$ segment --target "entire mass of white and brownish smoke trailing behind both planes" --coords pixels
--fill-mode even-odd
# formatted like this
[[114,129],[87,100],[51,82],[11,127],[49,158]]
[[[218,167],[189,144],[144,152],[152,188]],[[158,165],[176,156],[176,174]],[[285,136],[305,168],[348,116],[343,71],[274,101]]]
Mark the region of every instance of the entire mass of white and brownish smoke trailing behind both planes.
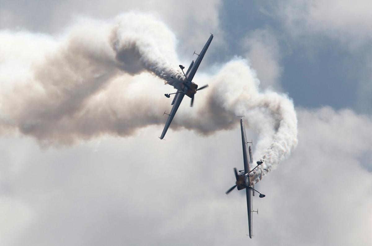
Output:
[[[159,88],[183,80],[174,70],[175,48],[173,33],[144,14],[81,20],[59,38],[1,31],[0,133],[15,129],[42,146],[70,145],[163,125],[170,100]],[[235,58],[214,75],[198,73],[196,82],[210,87],[196,95],[195,108],[177,112],[172,129],[210,134],[236,127],[235,116],[245,114],[247,128],[259,133],[255,156],[264,160],[256,182],[296,146],[293,103],[260,93],[246,60]]]

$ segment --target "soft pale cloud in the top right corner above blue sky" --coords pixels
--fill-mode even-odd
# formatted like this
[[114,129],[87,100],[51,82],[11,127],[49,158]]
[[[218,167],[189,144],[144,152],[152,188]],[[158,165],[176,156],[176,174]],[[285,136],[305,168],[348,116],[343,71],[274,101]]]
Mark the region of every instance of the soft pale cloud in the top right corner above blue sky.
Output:
[[360,48],[372,38],[369,1],[288,0],[280,2],[276,9],[293,36],[311,38],[314,33],[320,34],[350,49]]

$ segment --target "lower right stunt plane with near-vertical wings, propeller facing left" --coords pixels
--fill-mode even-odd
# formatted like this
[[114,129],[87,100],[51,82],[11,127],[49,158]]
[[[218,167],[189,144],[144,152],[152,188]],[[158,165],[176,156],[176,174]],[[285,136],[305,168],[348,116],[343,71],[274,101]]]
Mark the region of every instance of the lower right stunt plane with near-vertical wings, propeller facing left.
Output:
[[[246,189],[249,237],[252,238],[252,227],[253,227],[252,212],[256,212],[258,214],[258,209],[257,211],[254,211],[252,208],[252,199],[253,199],[252,196],[254,196],[254,191],[260,194],[259,195],[260,198],[265,197],[265,195],[254,189],[254,184],[251,185],[250,178],[252,178],[252,176],[256,174],[256,171],[254,169],[260,166],[263,163],[263,161],[262,160],[257,161],[257,166],[251,169],[251,164],[253,163],[252,149],[251,149],[251,145],[249,145],[249,147],[247,148],[247,143],[252,143],[253,141],[247,142],[246,129],[244,128],[244,120],[243,120],[244,116],[238,116],[238,117],[241,117],[240,128],[241,128],[241,142],[243,144],[244,170],[237,171],[237,169],[234,168],[236,182],[233,187],[231,187],[228,191],[226,191],[226,194],[229,194],[232,190],[235,189],[235,187],[237,187],[238,190]],[[249,158],[248,158],[247,150],[249,153]]]

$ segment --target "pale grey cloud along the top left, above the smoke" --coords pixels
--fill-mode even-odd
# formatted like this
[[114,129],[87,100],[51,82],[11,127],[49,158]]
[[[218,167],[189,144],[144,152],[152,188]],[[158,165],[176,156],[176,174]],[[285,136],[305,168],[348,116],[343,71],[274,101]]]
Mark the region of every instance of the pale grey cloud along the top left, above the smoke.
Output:
[[35,1],[29,5],[23,0],[16,0],[1,5],[0,28],[59,34],[61,29],[74,25],[81,16],[109,19],[123,12],[141,12],[166,22],[182,41],[180,54],[191,55],[195,48],[205,42],[204,35],[209,32],[219,35],[219,40],[215,41],[216,48],[224,45],[219,27],[221,4],[220,0],[187,3],[168,0],[161,4],[154,1],[83,0]]

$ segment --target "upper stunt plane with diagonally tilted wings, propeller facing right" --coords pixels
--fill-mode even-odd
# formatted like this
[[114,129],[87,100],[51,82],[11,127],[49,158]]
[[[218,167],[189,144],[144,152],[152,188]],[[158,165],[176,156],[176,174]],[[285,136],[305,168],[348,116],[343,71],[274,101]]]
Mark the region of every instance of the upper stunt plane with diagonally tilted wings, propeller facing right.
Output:
[[186,74],[183,71],[183,69],[185,67],[183,67],[182,65],[179,65],[179,67],[182,70],[183,75],[185,75],[186,81],[183,82],[181,85],[177,86],[178,88],[176,88],[177,89],[176,93],[164,94],[164,96],[166,96],[167,98],[170,98],[170,95],[172,95],[172,94],[175,94],[175,96],[174,96],[173,101],[171,103],[171,105],[173,105],[173,107],[172,107],[170,113],[167,114],[164,111],[164,114],[168,115],[168,119],[167,119],[167,122],[165,123],[164,130],[161,133],[161,136],[159,137],[160,139],[163,139],[165,134],[167,133],[168,127],[170,126],[170,123],[172,122],[173,117],[176,114],[177,109],[180,106],[183,97],[186,95],[186,96],[191,98],[190,107],[192,107],[193,104],[194,104],[195,93],[197,91],[203,90],[206,87],[208,87],[208,85],[204,85],[204,86],[198,88],[198,85],[195,84],[194,82],[192,82],[192,79],[194,78],[194,75],[195,75],[196,71],[198,70],[200,63],[202,62],[202,59],[205,55],[205,52],[207,51],[209,45],[211,44],[212,39],[213,39],[213,34],[211,33],[211,36],[209,36],[209,39],[205,43],[204,48],[202,49],[200,54],[196,54],[195,51],[194,51],[194,54],[198,55],[198,58],[196,58],[195,62],[194,61],[191,62],[189,68],[186,71]]

